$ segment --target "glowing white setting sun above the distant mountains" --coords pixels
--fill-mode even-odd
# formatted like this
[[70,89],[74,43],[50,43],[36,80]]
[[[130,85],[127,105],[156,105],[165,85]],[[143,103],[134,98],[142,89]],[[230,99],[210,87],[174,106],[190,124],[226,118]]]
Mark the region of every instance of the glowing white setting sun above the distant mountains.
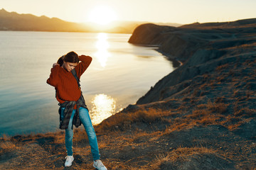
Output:
[[109,6],[96,6],[89,13],[89,21],[99,25],[107,25],[117,20],[117,14]]

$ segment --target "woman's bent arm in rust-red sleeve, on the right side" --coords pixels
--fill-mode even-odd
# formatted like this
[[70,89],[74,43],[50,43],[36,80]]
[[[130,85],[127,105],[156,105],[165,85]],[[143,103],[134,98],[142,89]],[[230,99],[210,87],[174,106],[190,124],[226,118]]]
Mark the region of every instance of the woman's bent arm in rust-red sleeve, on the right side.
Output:
[[92,62],[92,57],[87,55],[80,55],[79,56],[79,64],[77,67],[75,67],[75,72],[77,72],[78,77],[80,79],[80,76],[85,72],[85,70],[89,67],[90,63]]

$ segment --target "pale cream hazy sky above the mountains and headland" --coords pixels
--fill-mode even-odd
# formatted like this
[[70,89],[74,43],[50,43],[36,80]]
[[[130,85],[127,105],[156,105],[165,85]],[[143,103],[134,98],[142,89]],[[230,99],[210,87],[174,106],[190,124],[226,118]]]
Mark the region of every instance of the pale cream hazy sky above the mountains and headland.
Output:
[[[0,8],[65,21],[86,22],[97,6],[120,21],[206,23],[256,18],[256,0],[1,0]],[[106,14],[107,15],[107,14]],[[105,16],[100,13],[99,16]]]

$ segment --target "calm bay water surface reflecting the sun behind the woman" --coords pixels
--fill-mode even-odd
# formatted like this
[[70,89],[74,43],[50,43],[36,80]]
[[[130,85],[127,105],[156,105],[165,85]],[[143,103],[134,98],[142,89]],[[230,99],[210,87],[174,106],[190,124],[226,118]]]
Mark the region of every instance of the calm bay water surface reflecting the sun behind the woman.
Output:
[[173,64],[129,34],[0,31],[0,136],[58,130],[58,101],[46,84],[58,57],[90,55],[81,88],[94,125],[136,103]]

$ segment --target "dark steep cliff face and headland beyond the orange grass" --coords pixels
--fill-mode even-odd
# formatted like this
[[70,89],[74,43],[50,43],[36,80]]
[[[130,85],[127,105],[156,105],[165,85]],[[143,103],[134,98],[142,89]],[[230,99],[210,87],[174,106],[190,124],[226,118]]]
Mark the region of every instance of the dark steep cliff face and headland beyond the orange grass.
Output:
[[[167,75],[139,98],[137,104],[162,101],[177,94],[187,86],[193,78],[215,72],[223,64],[245,62],[255,57],[253,47],[256,39],[256,19],[235,21],[230,27],[218,24],[219,28],[209,28],[210,24],[202,25],[200,29],[194,24],[185,28],[172,28],[145,24],[134,30],[129,42],[144,45],[159,45],[161,52],[168,57],[181,60],[183,64]],[[236,24],[238,28],[233,26]],[[199,26],[197,26],[199,27]],[[206,28],[205,28],[206,27]],[[247,47],[250,47],[247,48]]]

